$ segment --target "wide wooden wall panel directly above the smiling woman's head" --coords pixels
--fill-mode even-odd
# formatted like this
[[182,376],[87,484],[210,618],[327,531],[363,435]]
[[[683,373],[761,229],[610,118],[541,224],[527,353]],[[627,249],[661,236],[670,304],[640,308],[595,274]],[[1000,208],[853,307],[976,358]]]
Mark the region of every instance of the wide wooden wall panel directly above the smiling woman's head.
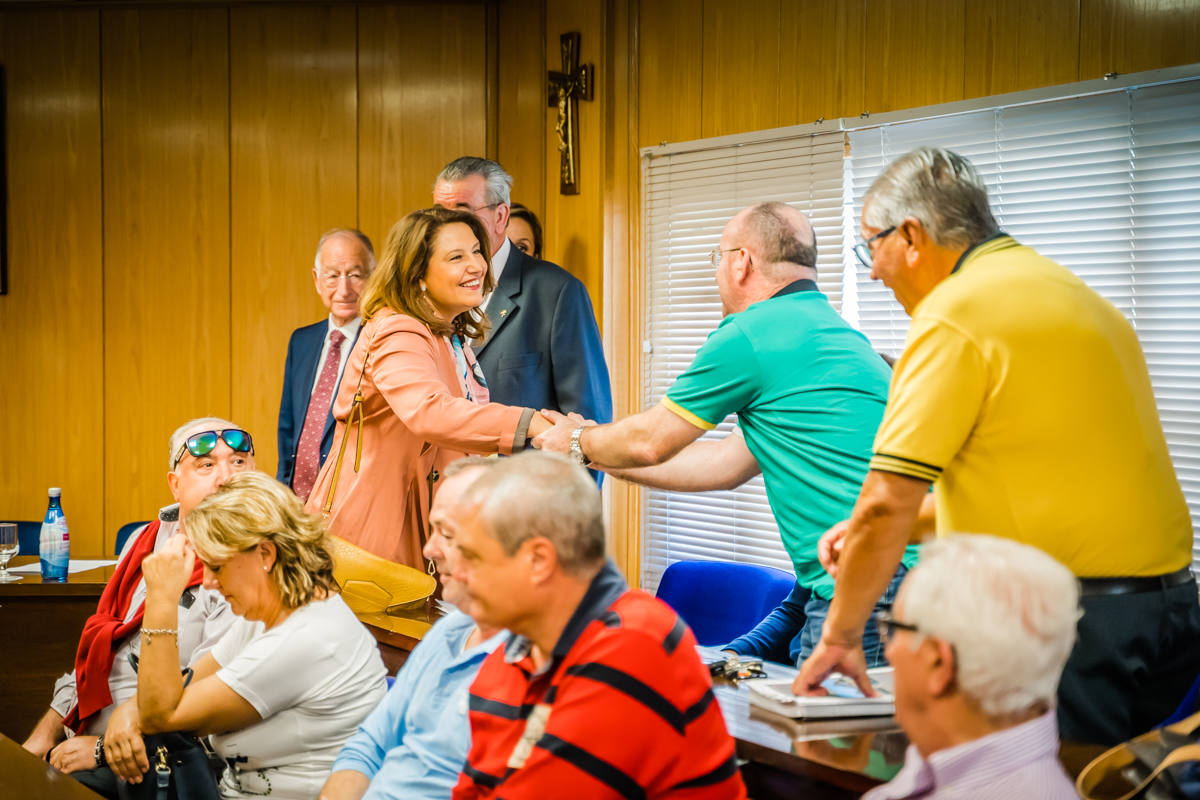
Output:
[[487,148],[487,10],[359,8],[359,223],[379,249],[433,179]]

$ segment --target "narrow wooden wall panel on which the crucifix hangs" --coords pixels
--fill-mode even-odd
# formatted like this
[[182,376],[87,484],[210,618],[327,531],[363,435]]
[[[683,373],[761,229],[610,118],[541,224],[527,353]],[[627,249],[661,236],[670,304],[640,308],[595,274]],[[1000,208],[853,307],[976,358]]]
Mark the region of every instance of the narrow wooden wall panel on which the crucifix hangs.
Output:
[[[605,0],[550,0],[546,4],[546,64],[562,67],[558,37],[578,31],[580,64],[604,71]],[[604,319],[604,170],[601,94],[580,102],[580,193],[562,194],[558,173],[557,109],[544,107],[546,119],[545,255],[583,282],[592,295],[596,319]],[[602,323],[601,323],[602,324]]]

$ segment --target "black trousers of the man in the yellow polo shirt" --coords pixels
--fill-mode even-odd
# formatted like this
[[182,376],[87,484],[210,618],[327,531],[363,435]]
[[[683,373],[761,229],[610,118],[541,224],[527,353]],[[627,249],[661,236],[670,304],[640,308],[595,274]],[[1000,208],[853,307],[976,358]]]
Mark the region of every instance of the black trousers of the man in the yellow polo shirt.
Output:
[[1058,685],[1058,730],[1111,746],[1170,716],[1200,675],[1196,584],[1085,595],[1080,604],[1079,638]]

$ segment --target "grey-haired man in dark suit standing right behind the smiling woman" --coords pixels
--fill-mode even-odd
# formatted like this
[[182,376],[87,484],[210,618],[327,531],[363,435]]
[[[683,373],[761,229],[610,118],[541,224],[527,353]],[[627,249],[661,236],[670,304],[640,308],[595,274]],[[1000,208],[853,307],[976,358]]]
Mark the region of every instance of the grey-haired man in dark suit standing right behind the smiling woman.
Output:
[[612,390],[592,299],[563,267],[530,258],[508,240],[512,178],[487,158],[446,164],[433,201],[473,212],[487,229],[496,291],[484,299],[492,323],[475,347],[492,402],[578,411],[612,420]]

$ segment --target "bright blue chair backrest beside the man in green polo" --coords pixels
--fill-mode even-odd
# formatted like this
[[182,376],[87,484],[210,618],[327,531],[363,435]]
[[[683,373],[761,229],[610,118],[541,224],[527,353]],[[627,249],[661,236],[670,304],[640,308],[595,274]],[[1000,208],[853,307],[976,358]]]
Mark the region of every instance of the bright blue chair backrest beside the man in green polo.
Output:
[[676,561],[662,573],[658,597],[688,624],[703,645],[749,632],[796,585],[782,570],[731,561]]

